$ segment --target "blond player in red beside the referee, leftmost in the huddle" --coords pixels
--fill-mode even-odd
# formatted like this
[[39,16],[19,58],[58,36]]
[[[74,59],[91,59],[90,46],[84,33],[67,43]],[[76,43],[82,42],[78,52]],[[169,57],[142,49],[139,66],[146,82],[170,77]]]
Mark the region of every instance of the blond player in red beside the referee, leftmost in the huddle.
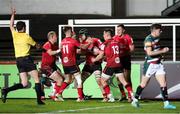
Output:
[[[41,74],[45,75],[45,78],[53,80],[55,83],[55,93],[60,89],[61,83],[64,77],[61,70],[56,65],[56,55],[61,51],[57,46],[57,34],[54,31],[48,32],[48,41],[43,45]],[[43,78],[43,77],[42,77]],[[54,101],[61,101],[54,95],[51,97]]]

